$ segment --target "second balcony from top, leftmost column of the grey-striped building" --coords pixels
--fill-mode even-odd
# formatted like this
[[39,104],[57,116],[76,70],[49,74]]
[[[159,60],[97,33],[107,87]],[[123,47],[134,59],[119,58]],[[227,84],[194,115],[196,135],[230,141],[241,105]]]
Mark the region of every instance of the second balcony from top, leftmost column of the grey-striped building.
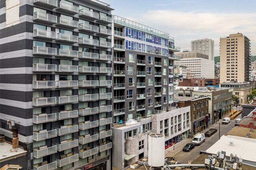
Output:
[[37,11],[33,13],[33,20],[42,22],[43,24],[46,24],[46,23],[56,24],[57,16]]

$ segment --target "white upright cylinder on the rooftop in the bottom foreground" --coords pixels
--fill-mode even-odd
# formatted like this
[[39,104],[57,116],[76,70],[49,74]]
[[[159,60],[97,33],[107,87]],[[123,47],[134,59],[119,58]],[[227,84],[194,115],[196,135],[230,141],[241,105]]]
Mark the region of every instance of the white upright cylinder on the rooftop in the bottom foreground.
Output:
[[159,167],[165,164],[165,135],[148,135],[148,165]]

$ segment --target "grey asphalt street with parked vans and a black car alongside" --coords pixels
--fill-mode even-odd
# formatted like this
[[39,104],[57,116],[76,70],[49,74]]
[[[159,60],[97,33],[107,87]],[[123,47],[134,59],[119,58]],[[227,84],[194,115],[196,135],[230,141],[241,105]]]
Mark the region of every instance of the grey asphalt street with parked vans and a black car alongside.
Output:
[[[241,117],[241,115],[239,115],[239,117]],[[221,128],[221,136],[222,136],[225,133],[229,132],[235,126],[236,119],[230,120],[230,123],[228,124],[222,124],[221,120],[219,122],[220,122],[220,128]],[[217,129],[217,132],[213,134],[211,137],[206,137],[205,142],[202,143],[200,146],[195,146],[195,148],[192,149],[190,152],[183,152],[182,148],[184,147],[184,145],[186,145],[186,143],[192,143],[192,139],[190,139],[190,140],[187,140],[186,143],[175,148],[174,150],[172,150],[173,147],[171,147],[169,150],[169,153],[165,154],[165,157],[170,157],[170,156],[174,157],[174,159],[177,160],[179,163],[188,163],[188,161],[192,161],[199,155],[200,151],[202,150],[206,151],[215,142],[219,140],[219,122],[210,125],[208,129],[204,130],[204,132],[206,132],[210,128],[214,128],[214,129]]]

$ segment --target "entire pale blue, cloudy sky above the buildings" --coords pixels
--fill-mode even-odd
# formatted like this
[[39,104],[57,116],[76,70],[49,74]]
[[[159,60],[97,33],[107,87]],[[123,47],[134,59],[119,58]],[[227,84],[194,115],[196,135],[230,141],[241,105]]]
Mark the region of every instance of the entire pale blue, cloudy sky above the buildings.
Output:
[[191,49],[191,40],[214,40],[242,33],[256,55],[256,0],[101,0],[115,9],[113,15],[169,33],[175,46]]

